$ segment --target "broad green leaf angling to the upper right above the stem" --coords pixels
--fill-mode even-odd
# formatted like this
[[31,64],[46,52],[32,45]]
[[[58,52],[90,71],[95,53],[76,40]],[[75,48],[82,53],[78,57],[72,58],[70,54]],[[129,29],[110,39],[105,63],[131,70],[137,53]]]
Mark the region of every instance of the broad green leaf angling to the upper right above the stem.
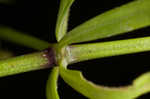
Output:
[[79,25],[60,46],[110,37],[150,25],[150,0],[134,0]]

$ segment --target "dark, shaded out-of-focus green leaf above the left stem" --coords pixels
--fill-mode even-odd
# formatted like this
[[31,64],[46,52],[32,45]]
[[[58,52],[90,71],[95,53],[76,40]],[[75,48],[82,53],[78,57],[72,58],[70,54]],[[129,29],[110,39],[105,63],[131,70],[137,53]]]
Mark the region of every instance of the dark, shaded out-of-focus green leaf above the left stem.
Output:
[[48,42],[7,27],[0,27],[0,38],[38,50],[51,46]]

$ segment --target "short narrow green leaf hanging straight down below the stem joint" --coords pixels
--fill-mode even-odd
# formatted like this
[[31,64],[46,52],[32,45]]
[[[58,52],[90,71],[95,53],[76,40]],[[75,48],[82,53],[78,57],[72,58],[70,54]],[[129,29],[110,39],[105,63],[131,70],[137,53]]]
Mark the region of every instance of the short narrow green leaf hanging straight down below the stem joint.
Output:
[[59,76],[59,67],[54,67],[48,78],[46,86],[47,99],[59,99],[57,92],[57,80]]

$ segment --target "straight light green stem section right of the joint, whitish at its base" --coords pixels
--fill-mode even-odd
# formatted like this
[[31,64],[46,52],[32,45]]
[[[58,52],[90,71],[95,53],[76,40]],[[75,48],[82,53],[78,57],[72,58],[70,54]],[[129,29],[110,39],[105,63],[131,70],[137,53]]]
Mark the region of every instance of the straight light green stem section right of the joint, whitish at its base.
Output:
[[69,63],[108,56],[144,52],[150,50],[150,37],[102,43],[71,45],[66,48]]

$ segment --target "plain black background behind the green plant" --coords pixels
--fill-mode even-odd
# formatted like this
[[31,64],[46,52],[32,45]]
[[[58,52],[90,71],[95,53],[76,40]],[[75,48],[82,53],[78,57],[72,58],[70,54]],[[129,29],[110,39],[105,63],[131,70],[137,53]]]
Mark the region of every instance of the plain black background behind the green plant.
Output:
[[[70,11],[69,30],[86,20],[116,6],[132,0],[75,0]],[[56,42],[54,31],[59,7],[59,0],[17,0],[13,5],[0,5],[0,25],[15,28],[48,42]],[[113,41],[149,36],[150,28],[139,29],[112,38],[97,40]],[[11,34],[10,34],[11,36]],[[11,50],[16,56],[32,53],[36,50],[11,42],[0,40],[3,49]],[[94,41],[95,42],[95,41]],[[96,84],[123,86],[144,72],[150,71],[150,52],[121,55],[90,60],[69,66],[78,69]],[[51,69],[22,73],[0,78],[1,99],[45,99],[45,85]],[[86,99],[59,78],[61,99]],[[150,94],[138,99],[149,99]]]

